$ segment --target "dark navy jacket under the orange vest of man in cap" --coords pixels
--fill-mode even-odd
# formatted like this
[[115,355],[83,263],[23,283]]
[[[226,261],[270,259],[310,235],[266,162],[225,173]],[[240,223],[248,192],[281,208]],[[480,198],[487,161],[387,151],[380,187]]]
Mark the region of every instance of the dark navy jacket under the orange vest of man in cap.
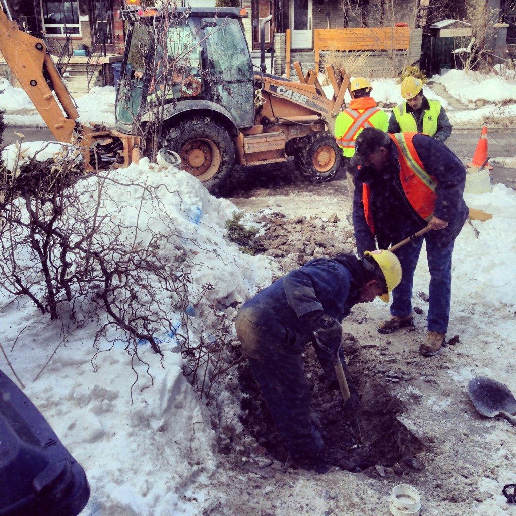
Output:
[[[412,142],[425,171],[437,181],[437,200],[434,215],[446,220],[448,226],[427,235],[441,248],[447,247],[462,229],[468,208],[462,198],[466,170],[460,159],[444,143],[423,134],[415,134]],[[398,149],[389,142],[389,163],[382,170],[362,166],[355,178],[353,198],[353,225],[359,256],[364,251],[376,249],[375,236],[380,249],[387,249],[426,227],[410,205],[399,180]],[[376,235],[371,233],[364,215],[362,185],[370,187],[370,204]]]

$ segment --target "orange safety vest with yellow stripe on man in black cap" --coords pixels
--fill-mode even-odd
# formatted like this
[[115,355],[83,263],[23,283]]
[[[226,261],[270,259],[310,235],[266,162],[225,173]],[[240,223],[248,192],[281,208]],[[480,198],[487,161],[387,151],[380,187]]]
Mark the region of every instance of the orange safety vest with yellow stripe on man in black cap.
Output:
[[[437,182],[423,168],[423,163],[412,143],[413,136],[417,133],[390,134],[392,141],[398,149],[399,180],[405,196],[414,211],[427,222],[432,218],[436,208]],[[369,229],[375,234],[373,212],[370,209],[370,188],[364,183],[362,188],[362,200],[364,202],[365,220]]]

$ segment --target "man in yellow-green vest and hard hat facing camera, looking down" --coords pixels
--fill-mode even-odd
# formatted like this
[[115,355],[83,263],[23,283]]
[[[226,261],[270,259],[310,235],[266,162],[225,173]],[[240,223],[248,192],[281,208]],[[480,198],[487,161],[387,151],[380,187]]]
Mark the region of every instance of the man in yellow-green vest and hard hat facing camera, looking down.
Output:
[[438,100],[428,100],[423,94],[423,81],[408,76],[401,83],[405,99],[392,110],[388,133],[421,133],[444,142],[451,135],[451,124]]

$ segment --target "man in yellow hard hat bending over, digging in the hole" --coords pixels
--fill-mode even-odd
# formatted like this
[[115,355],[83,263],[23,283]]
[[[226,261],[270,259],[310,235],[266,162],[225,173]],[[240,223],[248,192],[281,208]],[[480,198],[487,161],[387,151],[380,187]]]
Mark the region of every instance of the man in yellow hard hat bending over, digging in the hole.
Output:
[[385,299],[400,281],[401,265],[389,251],[373,251],[362,259],[337,254],[292,270],[238,310],[238,340],[289,459],[297,466],[323,472],[331,465],[321,432],[311,418],[311,391],[303,370],[305,347],[314,346],[324,372],[320,389],[338,389],[334,364],[342,364],[351,395],[344,412],[356,413],[360,398],[344,360],[342,321],[355,304],[377,296]]

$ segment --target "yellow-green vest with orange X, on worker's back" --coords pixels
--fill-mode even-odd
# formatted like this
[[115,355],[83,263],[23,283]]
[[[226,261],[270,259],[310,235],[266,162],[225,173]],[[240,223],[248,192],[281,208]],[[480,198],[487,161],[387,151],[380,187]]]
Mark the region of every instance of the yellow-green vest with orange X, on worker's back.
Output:
[[349,108],[340,112],[335,120],[335,141],[344,156],[350,158],[354,154],[355,140],[365,127],[387,131],[388,124],[387,114],[376,106],[372,97],[353,99]]

